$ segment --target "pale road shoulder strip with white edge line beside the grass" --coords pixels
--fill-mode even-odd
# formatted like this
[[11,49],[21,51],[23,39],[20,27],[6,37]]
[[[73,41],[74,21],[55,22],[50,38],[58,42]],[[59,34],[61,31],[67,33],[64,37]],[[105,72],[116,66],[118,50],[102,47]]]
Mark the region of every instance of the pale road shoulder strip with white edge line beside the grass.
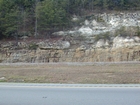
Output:
[[31,88],[140,88],[140,84],[35,84],[35,83],[0,83],[0,87]]

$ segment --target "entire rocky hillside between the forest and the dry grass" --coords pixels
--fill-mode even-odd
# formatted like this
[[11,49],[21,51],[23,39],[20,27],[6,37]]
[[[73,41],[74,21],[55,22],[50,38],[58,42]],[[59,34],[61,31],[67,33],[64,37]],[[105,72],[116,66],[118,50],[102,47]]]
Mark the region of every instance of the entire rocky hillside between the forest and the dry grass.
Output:
[[[57,40],[0,42],[0,62],[140,61],[140,12],[74,16]],[[17,46],[16,46],[17,45]]]

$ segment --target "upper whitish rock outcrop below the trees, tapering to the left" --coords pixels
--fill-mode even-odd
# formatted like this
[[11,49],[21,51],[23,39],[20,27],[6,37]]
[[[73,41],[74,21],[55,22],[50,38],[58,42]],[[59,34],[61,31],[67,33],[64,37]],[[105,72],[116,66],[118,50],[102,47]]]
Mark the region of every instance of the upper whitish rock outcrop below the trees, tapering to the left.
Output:
[[135,13],[104,13],[93,14],[90,20],[85,20],[81,27],[71,31],[55,32],[56,35],[66,36],[73,34],[80,36],[94,36],[105,32],[114,32],[123,26],[140,27],[140,12]]

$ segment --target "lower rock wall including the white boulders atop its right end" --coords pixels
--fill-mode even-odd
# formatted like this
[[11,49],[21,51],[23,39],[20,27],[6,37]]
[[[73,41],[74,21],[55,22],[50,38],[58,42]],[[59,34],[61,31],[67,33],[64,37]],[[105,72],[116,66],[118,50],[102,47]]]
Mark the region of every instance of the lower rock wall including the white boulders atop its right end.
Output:
[[[1,62],[117,62],[140,61],[140,38],[117,36],[110,46],[108,41],[100,39],[96,44],[70,48],[70,43],[62,41],[62,47],[38,46],[36,50],[12,50],[12,43],[1,47]],[[43,44],[43,42],[40,42]],[[26,45],[26,44],[23,44]],[[94,47],[93,47],[94,46]],[[69,48],[69,49],[68,49]]]

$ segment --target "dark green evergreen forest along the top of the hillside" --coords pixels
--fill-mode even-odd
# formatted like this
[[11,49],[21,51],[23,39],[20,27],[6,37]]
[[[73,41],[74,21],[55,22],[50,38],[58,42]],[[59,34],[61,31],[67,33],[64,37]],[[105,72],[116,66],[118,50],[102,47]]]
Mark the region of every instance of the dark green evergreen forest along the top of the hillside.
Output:
[[140,0],[0,0],[0,38],[51,35],[72,27],[73,15],[90,19],[110,10],[140,10]]

